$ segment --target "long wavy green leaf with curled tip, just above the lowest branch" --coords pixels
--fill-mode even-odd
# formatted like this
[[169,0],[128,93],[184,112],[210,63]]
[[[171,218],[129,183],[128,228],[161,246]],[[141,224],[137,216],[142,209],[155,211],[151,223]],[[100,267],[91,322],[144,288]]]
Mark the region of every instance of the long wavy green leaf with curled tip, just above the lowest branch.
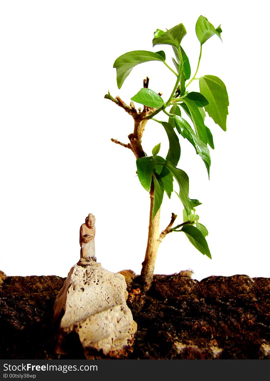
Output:
[[190,199],[188,196],[189,179],[188,179],[188,175],[185,173],[185,171],[183,171],[179,168],[175,168],[175,166],[172,165],[172,163],[170,163],[168,161],[165,163],[165,165],[169,169],[172,176],[174,176],[175,180],[178,182],[178,185],[179,185],[178,197],[182,201],[184,207],[189,208],[189,209],[193,209],[197,205],[200,205],[201,202],[199,202],[198,200]]

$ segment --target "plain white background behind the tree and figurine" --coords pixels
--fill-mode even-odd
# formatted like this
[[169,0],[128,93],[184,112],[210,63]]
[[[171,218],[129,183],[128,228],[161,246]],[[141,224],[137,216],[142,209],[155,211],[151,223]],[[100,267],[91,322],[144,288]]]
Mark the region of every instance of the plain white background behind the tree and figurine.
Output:
[[[149,88],[168,98],[174,75],[161,62],[132,70],[117,89],[112,65],[131,50],[151,50],[153,32],[182,22],[182,46],[194,73],[199,56],[196,20],[202,14],[222,40],[203,46],[198,76],[220,77],[229,94],[227,132],[207,121],[210,181],[203,161],[182,139],[178,166],[190,178],[190,197],[209,230],[212,261],[182,233],[162,242],[155,272],[193,269],[194,278],[247,274],[269,277],[269,74],[267,2],[69,0],[1,1],[0,269],[7,275],[66,276],[79,259],[79,228],[96,216],[96,256],[110,271],[140,273],[149,197],[136,177],[135,157],[110,138],[128,142],[132,118],[104,94],[129,103],[150,77]],[[166,51],[171,64],[170,47]],[[198,81],[190,90],[198,90]],[[148,154],[167,140],[148,122]],[[177,188],[176,188],[177,189]],[[178,214],[176,195],[164,196],[161,230]]]

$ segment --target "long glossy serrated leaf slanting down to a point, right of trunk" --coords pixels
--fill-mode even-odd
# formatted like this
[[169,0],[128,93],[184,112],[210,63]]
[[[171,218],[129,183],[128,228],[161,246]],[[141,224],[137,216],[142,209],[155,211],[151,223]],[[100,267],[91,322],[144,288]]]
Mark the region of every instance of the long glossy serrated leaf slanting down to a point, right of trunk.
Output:
[[183,136],[183,138],[188,139],[188,141],[195,148],[196,153],[200,155],[201,158],[203,159],[203,162],[206,166],[208,177],[209,177],[209,168],[211,165],[211,158],[210,158],[210,152],[207,145],[196,136],[191,126],[188,124],[188,122],[185,119],[183,119],[182,117],[179,117],[178,115],[174,115],[173,120],[174,120],[178,133],[180,133]]

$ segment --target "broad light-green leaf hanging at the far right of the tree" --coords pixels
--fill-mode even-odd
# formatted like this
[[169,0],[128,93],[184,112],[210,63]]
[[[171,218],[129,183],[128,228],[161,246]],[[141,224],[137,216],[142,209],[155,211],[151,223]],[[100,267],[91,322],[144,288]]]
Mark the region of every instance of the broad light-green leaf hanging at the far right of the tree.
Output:
[[205,107],[209,117],[226,131],[226,118],[228,115],[228,94],[226,86],[221,79],[214,75],[204,75],[199,79],[201,93],[208,99],[209,105]]

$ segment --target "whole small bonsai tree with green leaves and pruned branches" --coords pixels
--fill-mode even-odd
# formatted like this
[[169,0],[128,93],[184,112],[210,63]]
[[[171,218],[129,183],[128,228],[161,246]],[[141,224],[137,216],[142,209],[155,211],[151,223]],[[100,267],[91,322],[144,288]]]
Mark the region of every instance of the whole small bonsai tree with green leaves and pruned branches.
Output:
[[[154,32],[153,46],[172,46],[174,69],[166,62],[164,51],[130,51],[118,57],[114,62],[119,89],[133,67],[143,62],[160,61],[175,75],[175,83],[172,84],[172,92],[167,100],[162,99],[161,93],[156,93],[149,88],[148,77],[143,80],[143,88],[132,96],[129,104],[122,101],[119,96],[113,98],[109,92],[105,95],[106,99],[110,99],[120,106],[133,118],[134,128],[133,132],[128,135],[129,143],[125,144],[116,139],[111,140],[133,152],[136,158],[138,179],[150,195],[148,241],[141,270],[141,282],[145,291],[149,289],[153,279],[159,245],[170,232],[185,233],[194,247],[211,258],[205,239],[208,231],[203,224],[198,222],[199,216],[195,210],[195,207],[201,202],[190,199],[188,175],[178,168],[178,162],[181,151],[180,141],[187,139],[193,145],[196,154],[202,158],[209,176],[211,159],[208,146],[214,149],[214,143],[212,133],[205,125],[206,112],[222,130],[226,131],[229,102],[224,83],[214,75],[196,78],[203,44],[213,35],[217,35],[221,39],[221,32],[220,26],[215,28],[207,18],[203,16],[198,18],[196,35],[200,42],[200,53],[198,65],[192,77],[189,59],[181,46],[182,39],[186,34],[183,24],[166,31],[157,29]],[[195,80],[199,81],[199,91],[188,91],[189,86]],[[141,104],[142,107],[137,110],[134,102]],[[182,116],[183,112],[185,117]],[[164,117],[167,119],[166,121]],[[154,146],[151,153],[145,152],[143,149],[143,132],[149,120],[161,123],[166,131],[169,150],[165,158],[159,156],[161,143]],[[175,225],[177,215],[172,213],[169,225],[160,233],[159,218],[163,195],[166,192],[170,199],[174,184],[177,184],[175,192],[184,206],[183,222]]]

